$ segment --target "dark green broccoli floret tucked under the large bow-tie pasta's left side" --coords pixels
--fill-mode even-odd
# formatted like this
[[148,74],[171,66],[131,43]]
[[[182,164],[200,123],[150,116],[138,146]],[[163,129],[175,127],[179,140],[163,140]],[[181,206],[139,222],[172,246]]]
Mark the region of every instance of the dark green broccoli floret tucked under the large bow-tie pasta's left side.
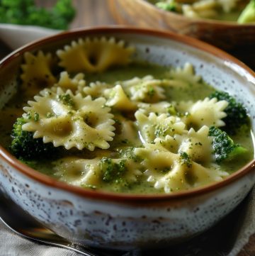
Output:
[[25,118],[17,118],[13,125],[12,141],[10,150],[18,159],[39,160],[51,159],[57,155],[57,148],[52,143],[43,143],[42,138],[33,138],[33,132],[22,130],[23,124],[27,123]]

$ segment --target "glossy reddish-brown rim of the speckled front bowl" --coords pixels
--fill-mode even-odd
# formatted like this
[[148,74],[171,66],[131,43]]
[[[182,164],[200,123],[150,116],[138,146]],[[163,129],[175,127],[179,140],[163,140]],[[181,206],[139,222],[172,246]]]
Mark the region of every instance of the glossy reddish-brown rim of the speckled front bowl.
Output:
[[[95,28],[79,28],[72,31],[67,31],[64,33],[60,33],[57,35],[53,35],[47,38],[43,38],[41,40],[36,40],[32,43],[29,43],[28,45],[24,45],[22,48],[19,48],[18,50],[15,50],[14,52],[11,52],[10,55],[6,56],[4,60],[1,60],[0,62],[0,68],[8,65],[8,62],[11,62],[13,59],[18,57],[19,55],[23,54],[23,52],[26,52],[28,50],[33,50],[34,47],[38,47],[40,45],[43,45],[45,43],[51,43],[54,42],[56,39],[67,39],[72,35],[76,35],[77,38],[79,36],[87,36],[94,33],[132,33],[132,34],[139,34],[139,35],[148,35],[148,36],[156,36],[157,38],[169,38],[171,40],[175,40],[180,43],[185,43],[187,45],[190,45],[193,48],[198,48],[200,50],[203,50],[205,52],[208,52],[211,55],[214,55],[216,57],[220,57],[221,59],[231,62],[234,65],[238,65],[239,67],[242,67],[246,71],[246,75],[251,75],[252,79],[254,81],[252,82],[255,85],[255,73],[249,69],[249,67],[246,67],[244,63],[237,60],[235,57],[232,57],[231,55],[227,54],[227,52],[224,52],[218,48],[215,48],[212,45],[209,45],[208,43],[203,43],[200,40],[197,40],[195,38],[190,38],[185,35],[178,35],[176,33],[166,32],[162,30],[152,30],[147,28],[133,28],[133,27],[127,27],[127,26],[106,26],[106,27],[95,27]],[[18,169],[19,172],[22,174],[25,174],[26,176],[35,179],[38,182],[41,182],[42,184],[45,184],[49,187],[62,189],[65,191],[72,192],[74,194],[78,194],[79,196],[89,197],[93,199],[101,199],[106,201],[113,201],[113,200],[120,200],[122,199],[122,203],[124,204],[133,204],[133,203],[149,203],[149,202],[163,202],[163,201],[169,201],[169,200],[176,200],[176,199],[187,199],[192,196],[197,195],[203,195],[206,193],[210,193],[216,189],[220,189],[222,187],[227,186],[227,184],[230,184],[234,182],[235,180],[239,179],[240,177],[243,177],[246,173],[251,172],[253,169],[255,169],[255,160],[252,160],[247,165],[239,169],[237,172],[234,172],[233,174],[230,174],[226,179],[222,180],[221,182],[215,182],[213,184],[209,184],[205,187],[198,187],[196,189],[191,189],[188,191],[179,191],[179,192],[173,192],[171,194],[121,194],[121,193],[114,193],[114,192],[107,192],[107,191],[91,191],[89,189],[83,189],[81,187],[74,187],[72,185],[69,185],[64,182],[59,182],[46,174],[42,174],[35,169],[32,169],[28,167],[27,165],[24,165],[22,162],[18,161],[16,157],[13,157],[10,152],[8,152],[6,149],[0,146],[0,157],[8,162],[9,165],[15,167]]]

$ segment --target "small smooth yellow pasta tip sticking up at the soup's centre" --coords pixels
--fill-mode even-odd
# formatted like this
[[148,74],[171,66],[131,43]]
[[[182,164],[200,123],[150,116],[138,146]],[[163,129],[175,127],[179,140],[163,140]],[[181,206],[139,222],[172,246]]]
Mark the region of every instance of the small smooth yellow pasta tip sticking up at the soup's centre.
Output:
[[128,99],[120,84],[111,89],[106,89],[103,96],[107,99],[106,106],[111,106],[119,111],[134,111],[137,108],[135,103]]

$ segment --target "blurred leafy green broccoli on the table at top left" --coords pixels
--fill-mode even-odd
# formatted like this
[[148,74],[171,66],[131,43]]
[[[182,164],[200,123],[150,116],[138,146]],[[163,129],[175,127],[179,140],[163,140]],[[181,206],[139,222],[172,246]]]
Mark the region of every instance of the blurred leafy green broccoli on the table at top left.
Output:
[[34,0],[0,0],[0,23],[65,30],[74,16],[72,0],[58,0],[49,10],[35,6]]

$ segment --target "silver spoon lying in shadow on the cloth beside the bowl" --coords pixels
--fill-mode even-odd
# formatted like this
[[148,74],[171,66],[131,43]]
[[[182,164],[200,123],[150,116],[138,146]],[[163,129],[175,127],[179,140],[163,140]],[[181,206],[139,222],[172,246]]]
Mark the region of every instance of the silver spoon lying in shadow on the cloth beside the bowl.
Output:
[[68,240],[53,233],[51,230],[43,227],[38,221],[34,221],[21,208],[13,204],[13,202],[5,199],[0,194],[1,208],[0,221],[2,221],[14,233],[21,235],[23,238],[33,240],[38,243],[63,247],[65,249],[79,252],[80,255],[85,256],[120,256],[125,255],[125,252],[101,252],[99,249],[75,245]]

